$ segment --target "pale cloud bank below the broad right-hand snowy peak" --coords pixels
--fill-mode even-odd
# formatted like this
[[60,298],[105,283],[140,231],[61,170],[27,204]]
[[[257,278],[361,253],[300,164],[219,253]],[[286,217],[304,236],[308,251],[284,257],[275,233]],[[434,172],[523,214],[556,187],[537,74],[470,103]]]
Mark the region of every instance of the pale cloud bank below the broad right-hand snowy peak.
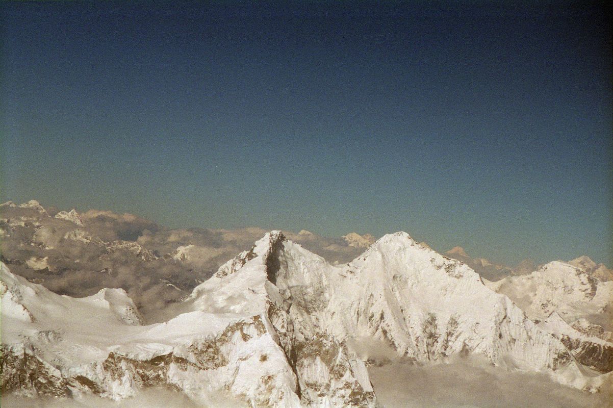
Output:
[[603,408],[612,398],[611,390],[590,394],[474,357],[432,366],[371,366],[368,372],[386,408]]

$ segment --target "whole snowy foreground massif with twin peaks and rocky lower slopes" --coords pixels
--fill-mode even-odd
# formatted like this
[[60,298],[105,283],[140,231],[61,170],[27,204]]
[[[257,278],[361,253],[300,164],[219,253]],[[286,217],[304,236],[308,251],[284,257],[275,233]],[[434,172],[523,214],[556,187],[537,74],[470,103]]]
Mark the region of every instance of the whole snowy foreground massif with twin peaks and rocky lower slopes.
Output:
[[1,272],[2,393],[121,399],[162,386],[203,404],[224,391],[248,406],[375,407],[368,344],[424,364],[481,355],[587,391],[611,382],[558,339],[571,329],[556,316],[537,325],[402,232],[339,266],[267,233],[153,325],[121,289],[70,298]]

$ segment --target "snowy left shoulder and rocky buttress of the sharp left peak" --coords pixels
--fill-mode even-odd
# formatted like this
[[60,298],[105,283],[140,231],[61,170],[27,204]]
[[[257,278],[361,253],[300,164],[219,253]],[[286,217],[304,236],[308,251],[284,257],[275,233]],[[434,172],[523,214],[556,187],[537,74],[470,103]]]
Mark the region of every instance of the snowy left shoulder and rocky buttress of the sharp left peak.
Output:
[[63,297],[2,264],[2,391],[120,399],[162,385],[204,404],[221,390],[255,406],[375,406],[364,363],[303,327],[308,311],[270,281],[278,242],[265,236],[197,287],[177,317],[149,326],[122,290]]

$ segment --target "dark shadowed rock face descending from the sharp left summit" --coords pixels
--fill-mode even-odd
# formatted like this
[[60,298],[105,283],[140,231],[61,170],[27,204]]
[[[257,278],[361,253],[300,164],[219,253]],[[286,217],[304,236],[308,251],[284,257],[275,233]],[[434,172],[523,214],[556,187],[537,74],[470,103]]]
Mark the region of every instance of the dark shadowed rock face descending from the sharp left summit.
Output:
[[[282,304],[267,303],[268,321],[279,338],[279,345],[297,378],[296,394],[302,406],[319,406],[319,398],[334,395],[345,407],[370,407],[376,404],[374,391],[366,391],[354,377],[354,367],[345,344],[341,344],[318,325],[318,311],[325,307],[317,287],[287,282],[288,261],[283,234],[270,238],[265,255],[267,279],[278,288]],[[319,300],[319,301],[318,301]],[[302,322],[302,323],[300,323]],[[303,322],[311,322],[305,327]],[[313,376],[313,369],[325,371]],[[343,380],[346,374],[351,380]],[[326,381],[322,379],[326,378]]]

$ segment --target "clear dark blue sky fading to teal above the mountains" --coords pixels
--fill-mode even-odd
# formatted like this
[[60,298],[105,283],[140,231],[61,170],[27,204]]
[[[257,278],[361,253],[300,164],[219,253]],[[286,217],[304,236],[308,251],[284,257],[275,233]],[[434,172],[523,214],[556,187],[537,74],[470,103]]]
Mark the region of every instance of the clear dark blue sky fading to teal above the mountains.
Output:
[[508,3],[2,2],[2,201],[613,266],[611,10]]

